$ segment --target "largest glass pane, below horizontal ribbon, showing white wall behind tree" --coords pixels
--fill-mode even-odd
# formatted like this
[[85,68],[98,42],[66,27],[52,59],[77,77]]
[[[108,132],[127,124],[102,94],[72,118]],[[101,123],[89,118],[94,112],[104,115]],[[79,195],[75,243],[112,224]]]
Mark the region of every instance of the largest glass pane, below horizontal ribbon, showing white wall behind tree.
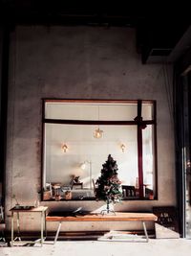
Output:
[[[96,126],[45,124],[45,183],[70,186],[73,176],[80,183],[80,195],[94,196],[93,179],[100,175],[102,164],[111,154],[117,161],[122,185],[136,185],[138,145],[136,126],[100,126],[102,138],[95,138]],[[62,146],[66,147],[62,149]],[[123,147],[122,147],[123,145]],[[79,197],[74,191],[74,197]],[[73,192],[73,191],[72,191]]]

